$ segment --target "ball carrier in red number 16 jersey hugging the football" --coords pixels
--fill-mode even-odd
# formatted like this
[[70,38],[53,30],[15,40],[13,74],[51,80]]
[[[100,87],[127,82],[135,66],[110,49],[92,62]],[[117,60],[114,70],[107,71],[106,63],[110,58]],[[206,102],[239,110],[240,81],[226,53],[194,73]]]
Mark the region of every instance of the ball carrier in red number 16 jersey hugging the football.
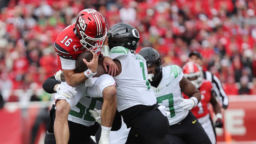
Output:
[[[112,121],[116,112],[116,87],[115,80],[110,75],[102,75],[95,81],[91,79],[96,74],[98,67],[98,57],[100,47],[102,47],[103,65],[105,70],[109,67],[108,73],[115,74],[117,67],[109,56],[109,48],[104,44],[107,36],[107,24],[101,14],[93,9],[85,9],[78,14],[76,23],[67,26],[60,34],[54,43],[54,49],[58,54],[59,68],[65,75],[66,82],[64,85],[72,86],[77,93],[74,97],[65,97],[59,93],[55,93],[54,99],[56,102],[56,118],[54,122],[54,134],[57,144],[67,144],[69,140],[68,114],[78,101],[84,96],[84,93],[96,91],[95,97],[99,95],[103,97],[102,105],[102,131],[100,143],[109,143],[108,135],[111,129]],[[84,52],[91,51],[93,59],[84,63],[88,69],[82,73],[75,73],[76,58]],[[87,83],[84,83],[84,82]],[[94,86],[92,86],[94,85]],[[98,85],[99,89],[95,89]],[[89,86],[85,88],[85,86]],[[60,86],[57,87],[60,89]],[[90,97],[93,97],[90,94]]]

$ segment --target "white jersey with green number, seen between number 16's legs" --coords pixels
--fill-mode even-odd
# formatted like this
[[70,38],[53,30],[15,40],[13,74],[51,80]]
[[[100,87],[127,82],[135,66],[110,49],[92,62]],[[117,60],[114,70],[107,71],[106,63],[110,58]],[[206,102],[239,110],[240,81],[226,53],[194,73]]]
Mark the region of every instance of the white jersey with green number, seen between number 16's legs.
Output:
[[94,108],[100,110],[102,102],[102,97],[82,97],[76,106],[70,110],[68,120],[84,126],[92,126],[95,119],[91,116],[89,110]]

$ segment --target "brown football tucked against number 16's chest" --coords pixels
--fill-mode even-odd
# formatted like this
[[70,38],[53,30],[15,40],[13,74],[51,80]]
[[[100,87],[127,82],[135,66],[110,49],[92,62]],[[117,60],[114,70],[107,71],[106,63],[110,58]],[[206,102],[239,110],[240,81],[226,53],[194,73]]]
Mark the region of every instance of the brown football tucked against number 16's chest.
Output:
[[92,60],[93,54],[90,51],[85,51],[78,55],[76,58],[76,72],[81,73],[88,69],[83,59],[90,62]]

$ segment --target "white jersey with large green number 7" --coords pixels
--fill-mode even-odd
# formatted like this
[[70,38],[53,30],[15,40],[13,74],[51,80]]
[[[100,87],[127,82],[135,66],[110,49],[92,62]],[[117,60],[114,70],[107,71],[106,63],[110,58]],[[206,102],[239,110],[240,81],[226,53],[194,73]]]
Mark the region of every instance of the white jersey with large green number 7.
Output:
[[164,105],[166,111],[171,112],[168,116],[169,124],[174,125],[180,122],[188,115],[188,110],[180,107],[180,97],[183,98],[180,91],[180,81],[183,78],[183,72],[177,65],[163,67],[162,80],[158,87],[151,86],[154,90],[158,104]]

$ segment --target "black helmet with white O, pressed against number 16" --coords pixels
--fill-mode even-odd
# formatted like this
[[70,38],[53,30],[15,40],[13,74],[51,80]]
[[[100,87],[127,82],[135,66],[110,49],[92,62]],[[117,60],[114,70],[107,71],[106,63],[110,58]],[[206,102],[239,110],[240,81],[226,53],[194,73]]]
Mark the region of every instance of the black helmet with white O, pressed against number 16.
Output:
[[107,35],[110,49],[122,46],[129,49],[131,53],[135,53],[140,40],[140,34],[136,28],[126,23],[117,23],[111,26]]

